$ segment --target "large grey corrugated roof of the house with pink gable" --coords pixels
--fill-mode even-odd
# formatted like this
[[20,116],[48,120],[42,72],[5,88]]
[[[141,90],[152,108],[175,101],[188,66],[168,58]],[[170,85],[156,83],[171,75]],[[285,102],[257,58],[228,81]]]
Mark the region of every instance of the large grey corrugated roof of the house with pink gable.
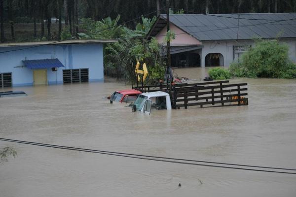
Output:
[[170,22],[200,41],[296,37],[296,13],[172,14]]

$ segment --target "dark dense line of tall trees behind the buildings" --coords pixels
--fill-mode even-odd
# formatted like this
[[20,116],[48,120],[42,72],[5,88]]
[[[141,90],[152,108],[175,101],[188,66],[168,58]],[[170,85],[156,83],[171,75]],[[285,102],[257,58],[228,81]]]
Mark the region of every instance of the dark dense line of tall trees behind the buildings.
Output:
[[[17,39],[14,33],[16,23],[32,23],[32,36],[36,39],[60,39],[64,25],[72,35],[77,34],[81,18],[98,21],[121,15],[119,23],[122,23],[149,13],[149,18],[164,14],[165,4],[166,0],[0,0],[1,42],[5,37],[9,37],[9,41]],[[296,0],[170,0],[170,7],[175,12],[183,9],[184,13],[209,14],[295,12]],[[60,19],[58,33],[54,36],[51,17]],[[44,23],[44,20],[48,22]],[[140,20],[129,22],[127,26],[134,28]],[[5,36],[4,28],[10,29],[9,36]]]

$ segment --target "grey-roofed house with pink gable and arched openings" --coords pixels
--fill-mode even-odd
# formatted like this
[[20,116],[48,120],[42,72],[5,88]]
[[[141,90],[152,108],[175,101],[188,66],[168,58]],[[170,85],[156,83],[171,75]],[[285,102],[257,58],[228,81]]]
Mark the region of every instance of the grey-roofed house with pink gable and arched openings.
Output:
[[[286,42],[296,62],[296,13],[172,14],[170,30],[176,35],[171,66],[229,66],[255,45],[255,38]],[[148,38],[165,46],[165,35],[166,15],[160,15]]]

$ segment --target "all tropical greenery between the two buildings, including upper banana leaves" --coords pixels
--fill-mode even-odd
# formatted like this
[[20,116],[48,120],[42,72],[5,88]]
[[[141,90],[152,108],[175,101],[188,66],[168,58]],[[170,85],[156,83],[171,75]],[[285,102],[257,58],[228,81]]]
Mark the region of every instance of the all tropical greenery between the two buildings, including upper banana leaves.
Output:
[[148,81],[154,82],[163,78],[164,59],[160,56],[157,40],[143,39],[156,21],[156,17],[148,19],[142,16],[142,23],[138,23],[135,30],[118,26],[119,19],[120,15],[114,20],[110,17],[101,21],[88,18],[82,19],[79,25],[79,30],[83,32],[78,35],[82,39],[118,39],[118,42],[107,44],[104,49],[105,74],[118,79],[135,81],[135,64],[139,61],[141,65],[146,63],[148,67]]

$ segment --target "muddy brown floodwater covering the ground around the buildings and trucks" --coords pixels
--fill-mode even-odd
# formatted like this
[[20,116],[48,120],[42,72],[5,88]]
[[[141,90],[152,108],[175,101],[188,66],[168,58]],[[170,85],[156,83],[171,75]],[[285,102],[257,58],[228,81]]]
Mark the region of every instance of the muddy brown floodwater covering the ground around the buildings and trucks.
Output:
[[[177,69],[200,79],[204,68]],[[108,81],[108,80],[106,80]],[[110,80],[109,80],[110,81]],[[296,80],[247,82],[249,106],[133,113],[104,99],[124,83],[2,89],[0,137],[132,154],[296,168]],[[295,197],[296,175],[123,158],[0,141],[1,197]],[[179,183],[182,184],[178,187]]]

